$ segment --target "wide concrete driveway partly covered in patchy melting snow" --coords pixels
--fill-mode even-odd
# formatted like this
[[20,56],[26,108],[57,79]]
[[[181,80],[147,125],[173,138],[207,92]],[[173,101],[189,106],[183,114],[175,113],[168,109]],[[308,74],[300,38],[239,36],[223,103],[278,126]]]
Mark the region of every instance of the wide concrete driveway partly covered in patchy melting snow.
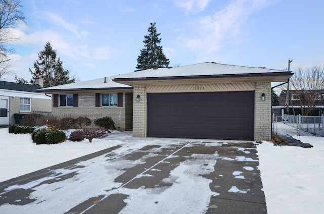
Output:
[[0,213],[267,212],[253,142],[109,140],[120,144],[0,183]]

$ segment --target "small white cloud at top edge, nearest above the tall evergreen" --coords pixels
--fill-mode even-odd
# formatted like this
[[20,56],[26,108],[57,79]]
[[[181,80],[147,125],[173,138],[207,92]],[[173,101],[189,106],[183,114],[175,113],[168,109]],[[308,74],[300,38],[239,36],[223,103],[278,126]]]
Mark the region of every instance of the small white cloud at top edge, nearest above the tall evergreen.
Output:
[[187,15],[204,11],[211,0],[176,0],[175,4],[185,10]]

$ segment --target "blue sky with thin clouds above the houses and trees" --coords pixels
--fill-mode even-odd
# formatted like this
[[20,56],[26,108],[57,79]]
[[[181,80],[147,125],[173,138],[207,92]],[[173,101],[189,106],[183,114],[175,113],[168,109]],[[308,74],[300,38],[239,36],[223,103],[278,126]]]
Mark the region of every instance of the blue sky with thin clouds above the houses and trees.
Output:
[[[28,68],[47,41],[79,81],[136,70],[151,22],[170,66],[203,62],[288,68],[324,64],[324,1],[23,0],[27,25],[13,34],[13,71]],[[6,76],[6,81],[14,81]]]

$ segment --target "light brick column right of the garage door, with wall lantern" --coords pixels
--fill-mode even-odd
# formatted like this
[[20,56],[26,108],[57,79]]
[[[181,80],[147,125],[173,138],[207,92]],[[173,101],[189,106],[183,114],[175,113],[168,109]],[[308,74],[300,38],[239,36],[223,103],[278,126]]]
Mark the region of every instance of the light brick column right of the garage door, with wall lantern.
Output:
[[[266,99],[261,100],[262,93]],[[271,139],[271,82],[257,82],[255,91],[255,140]]]

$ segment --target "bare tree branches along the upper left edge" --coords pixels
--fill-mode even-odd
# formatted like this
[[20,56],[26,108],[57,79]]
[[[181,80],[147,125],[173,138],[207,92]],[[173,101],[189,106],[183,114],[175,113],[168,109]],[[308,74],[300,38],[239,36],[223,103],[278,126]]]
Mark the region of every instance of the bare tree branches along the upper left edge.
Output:
[[0,0],[0,78],[11,73],[9,55],[14,49],[9,44],[19,38],[15,38],[10,29],[25,22],[21,7],[21,0]]

